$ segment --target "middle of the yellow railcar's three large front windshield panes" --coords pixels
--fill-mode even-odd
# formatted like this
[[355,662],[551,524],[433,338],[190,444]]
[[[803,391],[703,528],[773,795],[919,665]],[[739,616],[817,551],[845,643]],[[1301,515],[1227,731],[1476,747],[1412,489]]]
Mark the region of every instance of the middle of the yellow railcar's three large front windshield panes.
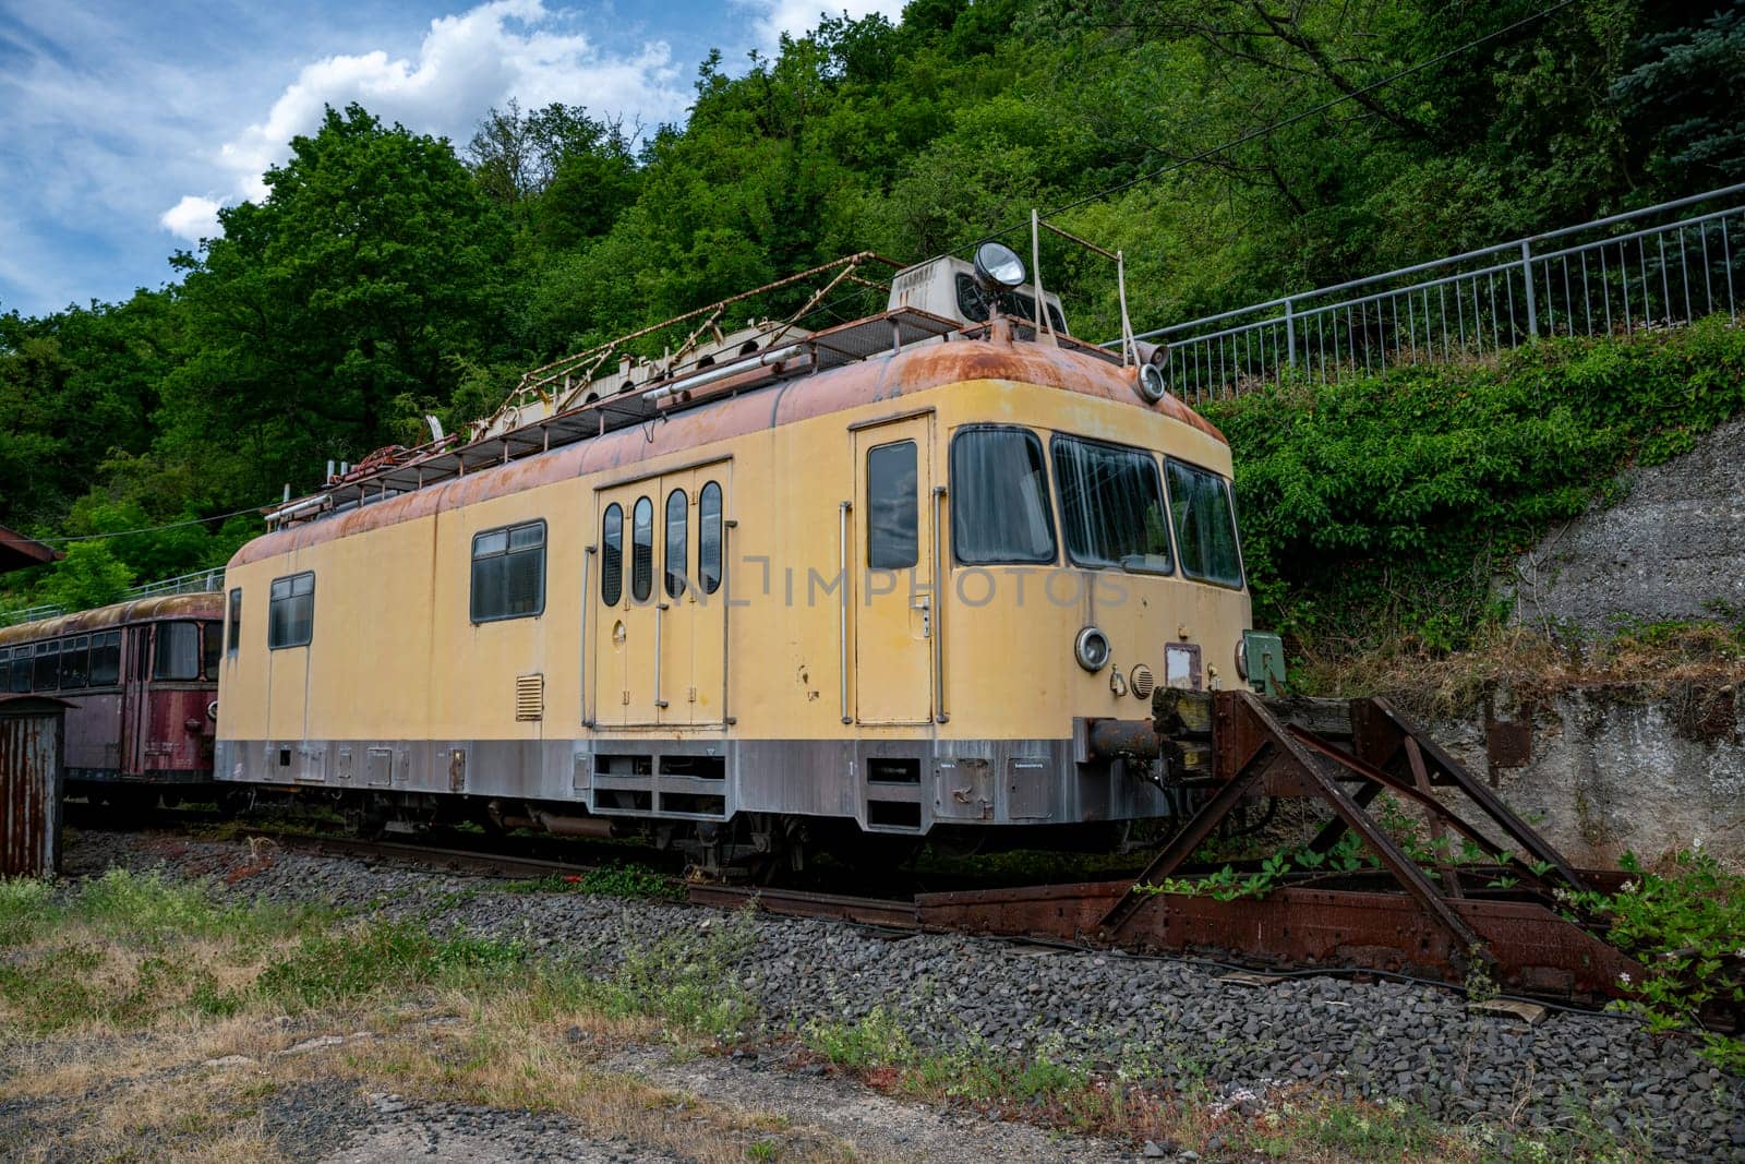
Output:
[[1167,574],[1169,518],[1152,454],[1077,436],[1056,436],[1052,448],[1066,557]]

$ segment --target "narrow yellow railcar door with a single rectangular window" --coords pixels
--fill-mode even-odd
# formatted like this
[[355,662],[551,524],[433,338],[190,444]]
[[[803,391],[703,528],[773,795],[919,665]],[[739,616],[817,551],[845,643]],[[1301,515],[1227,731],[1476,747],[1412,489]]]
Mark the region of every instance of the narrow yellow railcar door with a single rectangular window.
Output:
[[934,714],[932,417],[855,431],[853,578],[855,719],[923,724]]

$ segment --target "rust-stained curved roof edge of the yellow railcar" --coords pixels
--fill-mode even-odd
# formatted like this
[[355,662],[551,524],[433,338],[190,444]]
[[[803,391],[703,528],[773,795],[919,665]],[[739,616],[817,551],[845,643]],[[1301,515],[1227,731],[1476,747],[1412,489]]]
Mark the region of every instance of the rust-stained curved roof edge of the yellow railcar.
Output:
[[[230,565],[258,562],[290,550],[412,522],[551,482],[653,461],[670,452],[967,380],[1038,384],[1146,408],[1133,387],[1133,368],[1047,344],[960,340],[906,347],[888,359],[850,363],[817,375],[777,380],[754,393],[722,394],[670,417],[658,417],[658,422],[607,431],[344,513],[284,525],[237,550]],[[1211,421],[1173,396],[1146,410],[1162,412],[1220,443],[1228,443]]]

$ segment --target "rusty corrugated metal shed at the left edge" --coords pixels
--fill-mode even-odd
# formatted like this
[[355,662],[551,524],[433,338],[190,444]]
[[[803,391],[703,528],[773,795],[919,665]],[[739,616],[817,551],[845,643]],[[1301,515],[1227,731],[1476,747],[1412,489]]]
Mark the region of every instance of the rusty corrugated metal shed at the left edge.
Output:
[[0,876],[59,869],[68,707],[44,695],[0,695]]

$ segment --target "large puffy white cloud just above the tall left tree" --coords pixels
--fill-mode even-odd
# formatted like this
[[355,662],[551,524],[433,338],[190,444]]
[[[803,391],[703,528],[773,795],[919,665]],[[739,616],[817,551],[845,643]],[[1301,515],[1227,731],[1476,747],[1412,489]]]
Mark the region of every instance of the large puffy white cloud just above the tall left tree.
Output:
[[[564,31],[543,0],[490,0],[431,21],[415,59],[377,49],[305,65],[267,117],[225,141],[215,161],[229,175],[232,197],[260,199],[267,192],[262,173],[288,157],[293,136],[321,124],[328,105],[358,101],[386,122],[464,145],[478,119],[510,98],[524,108],[586,105],[595,115],[621,115],[632,124],[670,120],[686,105],[675,77],[665,42],[609,56],[588,37]],[[190,223],[197,213],[216,213],[216,206],[208,197],[183,195],[159,222],[190,237],[183,227],[204,229],[206,220]]]

